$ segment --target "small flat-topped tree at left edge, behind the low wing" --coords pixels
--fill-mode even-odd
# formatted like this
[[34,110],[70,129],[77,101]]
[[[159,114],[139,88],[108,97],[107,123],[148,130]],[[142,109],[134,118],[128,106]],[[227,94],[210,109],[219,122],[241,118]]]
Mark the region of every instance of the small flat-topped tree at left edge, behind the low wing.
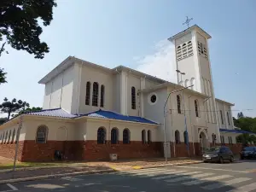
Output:
[[13,99],[11,102],[8,101],[8,99],[5,97],[3,99],[3,103],[0,104],[0,110],[2,113],[7,113],[9,120],[11,113],[20,113],[21,110],[26,110],[26,108],[29,108],[29,104],[27,102],[22,102],[19,100],[17,102],[16,99]]

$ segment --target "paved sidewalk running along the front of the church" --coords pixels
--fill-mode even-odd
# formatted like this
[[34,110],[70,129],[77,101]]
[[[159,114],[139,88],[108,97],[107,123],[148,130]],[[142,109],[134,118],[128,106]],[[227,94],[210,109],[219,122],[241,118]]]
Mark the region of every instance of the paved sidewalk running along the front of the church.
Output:
[[[0,170],[0,183],[15,183],[21,181],[46,179],[51,177],[67,177],[82,174],[94,174],[103,172],[125,171],[132,169],[145,169],[160,166],[176,166],[201,163],[197,159],[171,159],[167,164],[163,158],[141,160],[118,160],[115,162],[63,162],[54,163],[59,166],[22,167],[15,172],[12,169]],[[53,163],[49,163],[52,165]]]

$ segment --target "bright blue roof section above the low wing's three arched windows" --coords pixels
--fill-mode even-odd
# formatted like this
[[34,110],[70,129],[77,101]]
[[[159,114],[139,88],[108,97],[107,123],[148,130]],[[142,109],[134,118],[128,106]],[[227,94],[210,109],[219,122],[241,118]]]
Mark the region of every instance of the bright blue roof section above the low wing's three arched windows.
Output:
[[96,118],[103,118],[103,119],[116,119],[116,120],[125,120],[125,121],[131,121],[131,122],[137,122],[137,123],[144,123],[144,124],[153,124],[153,125],[159,125],[158,123],[148,120],[142,117],[137,117],[137,116],[128,116],[128,115],[123,115],[119,113],[114,113],[112,111],[105,111],[105,110],[98,110],[93,113],[87,113],[87,114],[82,114],[80,116],[88,116],[88,117],[96,117]]

